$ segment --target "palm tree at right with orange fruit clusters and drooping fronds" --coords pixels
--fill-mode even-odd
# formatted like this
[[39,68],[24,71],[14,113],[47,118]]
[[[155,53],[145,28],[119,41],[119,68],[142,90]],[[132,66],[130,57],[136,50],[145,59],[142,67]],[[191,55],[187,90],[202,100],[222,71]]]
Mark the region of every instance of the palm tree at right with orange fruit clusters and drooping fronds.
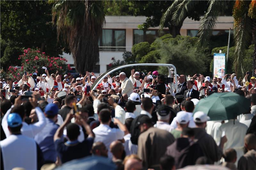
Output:
[[[198,46],[206,46],[212,35],[212,30],[216,24],[218,17],[226,10],[230,1],[209,0],[208,10],[204,14],[203,19],[200,21],[198,30]],[[200,6],[200,1],[193,0],[175,0],[172,5],[165,11],[161,18],[160,28],[163,28],[165,22],[173,22],[174,25],[180,24],[187,13],[193,11],[196,7]],[[256,22],[256,1],[239,1],[236,0],[233,7],[234,17],[234,40],[235,40],[235,60],[234,65],[236,73],[240,76],[244,74],[243,58],[245,50],[253,42],[255,43],[255,22]],[[254,23],[254,26],[253,26]],[[254,28],[254,29],[253,29]],[[254,48],[254,64],[256,67],[256,43]],[[238,69],[239,68],[239,69]]]

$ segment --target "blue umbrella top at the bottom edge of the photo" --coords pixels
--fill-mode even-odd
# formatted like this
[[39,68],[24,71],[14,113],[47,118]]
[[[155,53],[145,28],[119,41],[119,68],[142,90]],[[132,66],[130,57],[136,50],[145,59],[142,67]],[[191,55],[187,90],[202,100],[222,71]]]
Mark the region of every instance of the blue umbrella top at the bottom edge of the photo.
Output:
[[90,156],[69,161],[57,169],[114,170],[116,169],[116,165],[108,158]]

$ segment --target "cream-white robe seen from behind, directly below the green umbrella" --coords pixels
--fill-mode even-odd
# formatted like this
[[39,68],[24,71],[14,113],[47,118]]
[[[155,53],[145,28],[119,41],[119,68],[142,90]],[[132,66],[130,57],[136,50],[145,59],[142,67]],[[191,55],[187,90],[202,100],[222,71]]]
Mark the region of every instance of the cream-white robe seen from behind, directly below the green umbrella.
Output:
[[224,123],[220,126],[218,134],[219,137],[221,138],[222,132],[224,131],[228,139],[228,141],[224,144],[223,151],[228,148],[235,149],[237,161],[240,159],[241,156],[244,155],[244,137],[246,135],[247,129],[248,127],[245,124],[238,122],[238,120],[235,120],[234,124],[234,119],[228,120],[227,123]]

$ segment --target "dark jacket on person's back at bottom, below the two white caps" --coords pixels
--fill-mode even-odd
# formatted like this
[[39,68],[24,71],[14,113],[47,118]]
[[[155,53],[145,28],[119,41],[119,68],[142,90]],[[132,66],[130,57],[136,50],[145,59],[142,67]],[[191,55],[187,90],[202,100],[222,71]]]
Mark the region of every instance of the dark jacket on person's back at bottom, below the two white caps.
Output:
[[177,169],[188,165],[195,165],[196,159],[204,156],[204,153],[196,142],[189,142],[188,138],[178,138],[167,147],[166,154],[175,159]]

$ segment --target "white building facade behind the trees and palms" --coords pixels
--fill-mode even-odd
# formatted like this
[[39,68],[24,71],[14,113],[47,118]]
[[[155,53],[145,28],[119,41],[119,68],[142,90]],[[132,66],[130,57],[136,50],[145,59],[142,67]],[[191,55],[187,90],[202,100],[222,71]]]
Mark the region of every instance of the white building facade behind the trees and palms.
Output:
[[[131,51],[132,46],[136,43],[148,41],[153,42],[158,36],[169,33],[164,29],[161,35],[158,33],[159,27],[149,28],[147,31],[139,30],[138,25],[143,24],[147,17],[144,16],[106,16],[106,24],[102,30],[102,36],[99,41],[100,62],[94,63],[93,72],[95,74],[104,73],[108,70],[108,64],[112,62],[111,58],[123,60],[124,51]],[[202,17],[201,17],[202,18]],[[216,26],[212,32],[217,35],[222,32],[228,32],[233,28],[233,17],[222,16],[218,18]],[[196,36],[200,21],[194,21],[186,18],[180,29],[183,36]],[[68,60],[68,64],[74,65],[72,54],[64,53],[62,55]]]

